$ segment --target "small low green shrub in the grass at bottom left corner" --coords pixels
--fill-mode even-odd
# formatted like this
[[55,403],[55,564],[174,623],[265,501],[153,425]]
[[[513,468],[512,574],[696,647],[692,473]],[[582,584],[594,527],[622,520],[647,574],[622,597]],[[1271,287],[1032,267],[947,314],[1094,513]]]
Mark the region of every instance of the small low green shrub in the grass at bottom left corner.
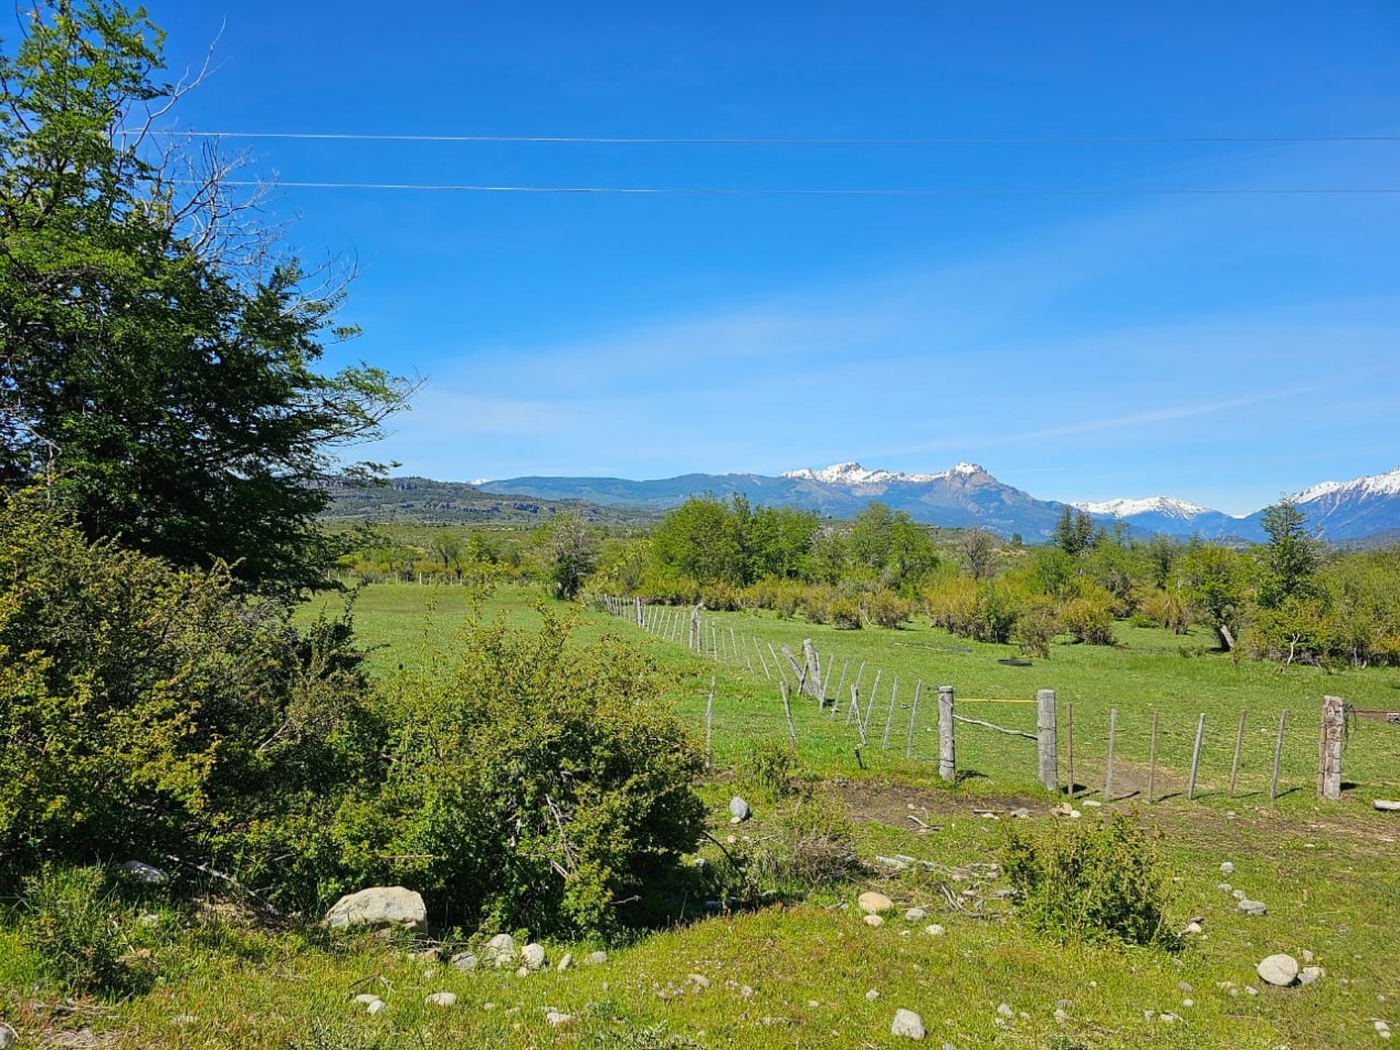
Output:
[[119,995],[147,983],[129,959],[129,917],[102,868],[45,865],[24,881],[21,910],[25,946],[64,991]]

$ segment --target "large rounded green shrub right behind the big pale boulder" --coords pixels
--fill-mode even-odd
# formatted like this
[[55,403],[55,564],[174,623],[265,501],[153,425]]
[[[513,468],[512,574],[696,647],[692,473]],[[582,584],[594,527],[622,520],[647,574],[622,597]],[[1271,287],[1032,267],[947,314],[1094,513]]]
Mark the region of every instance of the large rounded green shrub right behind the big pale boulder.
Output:
[[574,619],[539,613],[538,631],[473,617],[456,666],[400,678],[389,776],[336,834],[363,878],[444,918],[608,932],[703,833],[703,755],[640,651],[570,644]]

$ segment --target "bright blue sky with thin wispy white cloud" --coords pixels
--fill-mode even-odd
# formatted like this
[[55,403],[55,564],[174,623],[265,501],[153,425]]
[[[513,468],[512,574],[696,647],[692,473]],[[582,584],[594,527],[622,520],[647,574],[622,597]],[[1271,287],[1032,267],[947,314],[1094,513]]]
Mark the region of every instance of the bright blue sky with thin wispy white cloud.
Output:
[[426,379],[363,449],[403,472],[974,461],[1245,512],[1400,466],[1400,193],[1179,192],[1400,190],[1400,140],[1182,141],[1400,136],[1392,0],[148,7],[174,66],[218,36],[190,129],[1012,140],[228,139],[284,183],[746,190],[279,189],[358,272],[332,364]]

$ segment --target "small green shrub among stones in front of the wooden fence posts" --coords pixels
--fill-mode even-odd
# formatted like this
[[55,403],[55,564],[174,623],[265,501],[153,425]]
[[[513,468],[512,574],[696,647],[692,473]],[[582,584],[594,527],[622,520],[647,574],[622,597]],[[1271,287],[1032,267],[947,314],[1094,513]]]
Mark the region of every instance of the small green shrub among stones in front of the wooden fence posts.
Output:
[[1175,944],[1163,927],[1170,882],[1156,840],[1127,816],[1057,823],[1039,843],[1012,827],[1001,867],[1021,917],[1058,941]]

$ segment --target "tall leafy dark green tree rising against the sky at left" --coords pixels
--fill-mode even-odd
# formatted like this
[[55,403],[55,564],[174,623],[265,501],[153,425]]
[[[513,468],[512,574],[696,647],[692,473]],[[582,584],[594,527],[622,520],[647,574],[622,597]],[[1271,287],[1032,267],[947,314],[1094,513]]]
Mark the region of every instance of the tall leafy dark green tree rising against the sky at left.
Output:
[[182,94],[162,39],[118,0],[38,0],[0,49],[0,486],[244,588],[325,585],[315,483],[379,469],[337,456],[409,388],[318,371],[353,335],[343,284],[277,249],[217,157],[157,155],[140,129]]

